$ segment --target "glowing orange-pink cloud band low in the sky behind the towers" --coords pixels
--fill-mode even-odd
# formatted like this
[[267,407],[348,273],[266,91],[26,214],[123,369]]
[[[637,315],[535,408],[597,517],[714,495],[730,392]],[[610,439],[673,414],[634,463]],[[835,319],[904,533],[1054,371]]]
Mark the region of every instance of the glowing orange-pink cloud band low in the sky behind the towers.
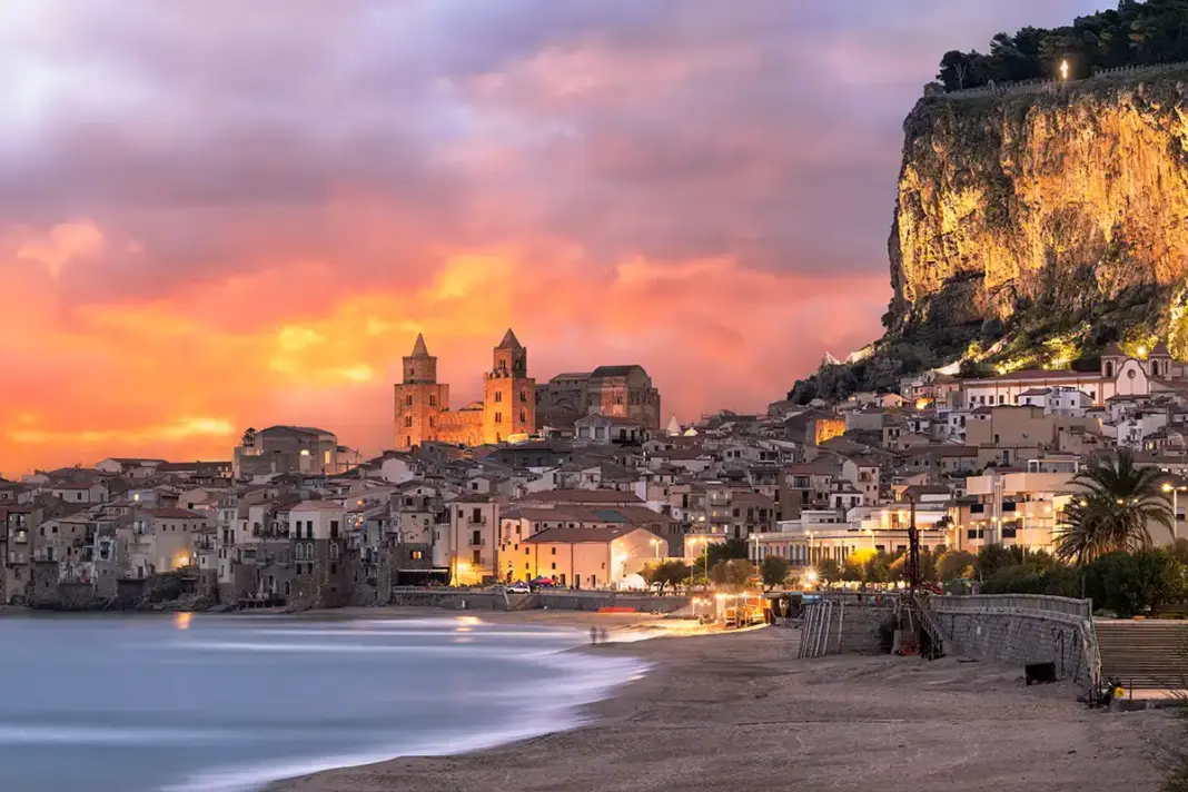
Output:
[[[53,239],[57,253],[39,255],[63,267],[70,252],[93,252]],[[56,310],[50,273],[18,278],[23,260],[0,259],[12,310],[0,353],[15,363],[0,389],[0,473],[10,475],[108,455],[228,458],[246,426],[284,422],[324,425],[375,452],[388,445],[391,386],[417,332],[459,404],[479,395],[491,348],[514,327],[539,380],[640,362],[665,411],[684,419],[762,408],[823,346],[845,351],[872,337],[886,292],[881,278],[759,271],[729,258],[631,258],[606,270],[556,242],[460,251],[422,284],[340,284],[324,299],[318,279],[301,277],[310,265],[295,262],[168,298]],[[235,316],[253,300],[267,310]]]

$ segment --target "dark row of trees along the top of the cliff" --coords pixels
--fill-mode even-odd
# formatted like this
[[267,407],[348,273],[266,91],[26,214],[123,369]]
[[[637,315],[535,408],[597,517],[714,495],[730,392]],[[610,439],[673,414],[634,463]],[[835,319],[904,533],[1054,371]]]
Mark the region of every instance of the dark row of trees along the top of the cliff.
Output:
[[1064,61],[1070,80],[1099,69],[1188,61],[1188,0],[1121,0],[1117,11],[1063,27],[998,33],[988,52],[946,52],[936,78],[946,90],[1054,78]]

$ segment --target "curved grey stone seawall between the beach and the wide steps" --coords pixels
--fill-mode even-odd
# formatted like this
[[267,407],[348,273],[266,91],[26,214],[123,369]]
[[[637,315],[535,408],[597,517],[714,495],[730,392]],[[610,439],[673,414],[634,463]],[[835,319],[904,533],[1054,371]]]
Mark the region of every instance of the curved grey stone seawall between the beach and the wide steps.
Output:
[[1053,663],[1057,679],[1089,685],[1097,676],[1097,648],[1088,619],[1026,609],[934,608],[946,651],[1013,665]]

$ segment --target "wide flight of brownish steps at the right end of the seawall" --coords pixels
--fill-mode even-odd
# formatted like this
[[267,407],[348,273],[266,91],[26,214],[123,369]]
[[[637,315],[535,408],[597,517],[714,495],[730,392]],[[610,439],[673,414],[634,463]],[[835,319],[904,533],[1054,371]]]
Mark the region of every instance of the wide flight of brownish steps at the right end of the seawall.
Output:
[[1095,628],[1102,679],[1136,690],[1188,689],[1188,622],[1099,620]]

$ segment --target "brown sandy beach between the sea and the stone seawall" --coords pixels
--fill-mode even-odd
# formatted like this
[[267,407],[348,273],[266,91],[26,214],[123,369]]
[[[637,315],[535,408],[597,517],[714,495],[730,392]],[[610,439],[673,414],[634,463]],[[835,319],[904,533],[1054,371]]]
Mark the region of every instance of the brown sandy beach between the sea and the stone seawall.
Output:
[[[424,615],[425,612],[421,612]],[[478,614],[476,614],[478,615]],[[491,621],[606,625],[533,612]],[[619,628],[652,617],[620,617]],[[293,792],[1155,790],[1162,712],[1089,711],[1067,685],[946,658],[797,660],[795,633],[656,638],[583,651],[653,665],[590,708],[589,726],[447,758],[291,779]],[[542,691],[542,696],[546,696]]]

